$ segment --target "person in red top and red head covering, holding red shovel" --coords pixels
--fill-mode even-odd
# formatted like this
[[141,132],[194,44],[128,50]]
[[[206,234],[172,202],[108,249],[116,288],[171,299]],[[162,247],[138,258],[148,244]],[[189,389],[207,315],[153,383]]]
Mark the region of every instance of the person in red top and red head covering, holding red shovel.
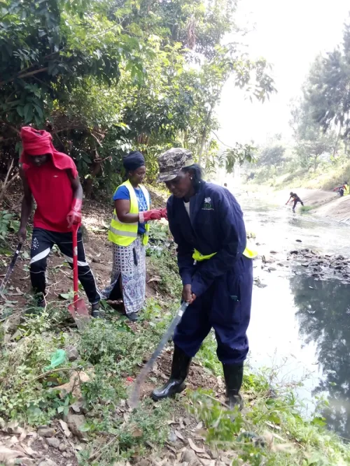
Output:
[[[38,306],[45,305],[45,270],[48,255],[57,245],[66,261],[73,266],[72,225],[81,222],[83,189],[75,163],[52,145],[47,131],[29,126],[21,129],[22,154],[20,176],[24,197],[20,219],[20,242],[27,236],[27,222],[36,202],[31,239],[30,278],[38,296]],[[92,316],[99,316],[96,282],[85,259],[83,238],[78,229],[78,277],[92,305]]]

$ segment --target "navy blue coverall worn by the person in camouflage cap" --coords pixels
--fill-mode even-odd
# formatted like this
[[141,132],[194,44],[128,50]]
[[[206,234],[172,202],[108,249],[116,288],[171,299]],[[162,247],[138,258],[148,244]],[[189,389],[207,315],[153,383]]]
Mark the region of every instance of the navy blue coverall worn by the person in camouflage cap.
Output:
[[[193,357],[213,327],[219,361],[242,363],[248,353],[253,265],[242,254],[246,228],[241,207],[228,189],[201,182],[190,198],[190,217],[183,199],[174,196],[168,200],[167,215],[183,285],[191,284],[197,296],[176,328],[174,344]],[[194,249],[217,254],[194,264]]]

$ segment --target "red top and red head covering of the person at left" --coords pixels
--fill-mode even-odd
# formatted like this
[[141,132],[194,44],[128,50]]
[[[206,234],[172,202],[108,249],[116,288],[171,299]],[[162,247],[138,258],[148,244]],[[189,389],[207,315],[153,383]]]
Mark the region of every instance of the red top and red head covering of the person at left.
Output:
[[[55,150],[52,136],[47,131],[24,126],[20,136],[23,145],[20,163],[36,202],[34,227],[59,233],[71,231],[66,216],[71,210],[73,189],[66,170],[71,170],[73,178],[78,176],[73,160]],[[37,167],[28,154],[50,154],[50,160]]]

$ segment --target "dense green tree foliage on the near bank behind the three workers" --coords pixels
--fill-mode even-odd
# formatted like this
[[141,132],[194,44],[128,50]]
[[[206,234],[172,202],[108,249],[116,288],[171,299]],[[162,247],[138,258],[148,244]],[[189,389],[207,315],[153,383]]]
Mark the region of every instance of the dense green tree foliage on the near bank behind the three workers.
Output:
[[239,33],[235,10],[236,0],[1,0],[1,170],[23,124],[52,132],[87,195],[115,187],[131,148],[151,179],[167,147],[207,158],[228,77],[256,99],[274,91],[265,60],[224,44]]

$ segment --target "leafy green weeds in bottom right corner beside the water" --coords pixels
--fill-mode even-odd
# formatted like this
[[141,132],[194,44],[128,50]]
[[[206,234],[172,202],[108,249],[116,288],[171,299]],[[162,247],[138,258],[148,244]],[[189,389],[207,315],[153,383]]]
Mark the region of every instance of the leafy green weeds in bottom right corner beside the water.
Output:
[[[260,388],[266,386],[262,381],[260,376],[249,376],[250,384]],[[197,391],[188,396],[190,412],[204,422],[206,441],[212,448],[233,451],[232,465],[242,461],[250,466],[349,464],[349,446],[325,430],[321,416],[305,421],[291,392],[276,398],[268,391],[255,393],[246,414],[225,409],[215,393]]]

